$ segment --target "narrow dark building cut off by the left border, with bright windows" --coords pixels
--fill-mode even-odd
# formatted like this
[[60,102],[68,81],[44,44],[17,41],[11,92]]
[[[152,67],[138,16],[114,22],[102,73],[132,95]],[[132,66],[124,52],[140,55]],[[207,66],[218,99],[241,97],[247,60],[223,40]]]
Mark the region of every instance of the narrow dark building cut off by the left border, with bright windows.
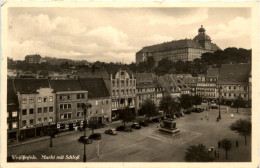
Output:
[[7,80],[7,142],[18,141],[19,102],[12,79]]

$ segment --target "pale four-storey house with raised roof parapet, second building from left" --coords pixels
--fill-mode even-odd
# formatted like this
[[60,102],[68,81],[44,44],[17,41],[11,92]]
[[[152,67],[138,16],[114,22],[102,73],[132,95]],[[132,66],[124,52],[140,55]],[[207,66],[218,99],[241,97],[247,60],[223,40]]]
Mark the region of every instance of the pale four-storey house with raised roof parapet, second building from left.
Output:
[[19,100],[20,138],[42,136],[55,126],[55,93],[47,79],[13,79]]

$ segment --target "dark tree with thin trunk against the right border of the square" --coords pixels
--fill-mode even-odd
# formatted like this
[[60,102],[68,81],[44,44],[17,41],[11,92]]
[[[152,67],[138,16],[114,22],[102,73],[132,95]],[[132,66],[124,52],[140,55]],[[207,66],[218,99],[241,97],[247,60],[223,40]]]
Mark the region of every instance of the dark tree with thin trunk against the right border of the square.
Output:
[[251,121],[245,119],[239,119],[230,125],[230,129],[235,131],[241,136],[245,137],[245,145],[247,145],[246,136],[251,134]]

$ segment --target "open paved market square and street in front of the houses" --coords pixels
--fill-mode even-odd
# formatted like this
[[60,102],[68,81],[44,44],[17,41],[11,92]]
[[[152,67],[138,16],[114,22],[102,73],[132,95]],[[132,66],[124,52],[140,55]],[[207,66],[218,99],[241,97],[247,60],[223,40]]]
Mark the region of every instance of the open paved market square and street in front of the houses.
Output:
[[[239,118],[250,118],[251,115],[234,113],[234,118],[231,118],[230,113],[226,113],[225,108],[221,108],[222,119],[218,122],[216,121],[218,109],[192,113],[176,119],[177,128],[180,129],[181,134],[174,137],[159,133],[157,131],[159,123],[151,123],[148,127],[133,130],[132,133],[117,132],[118,135],[115,136],[104,134],[104,131],[108,128],[116,128],[122,123],[97,129],[95,132],[102,133],[102,139],[99,143],[99,157],[97,154],[98,143],[93,141],[92,144],[86,145],[87,162],[183,162],[186,148],[190,145],[203,143],[207,147],[214,147],[218,150],[217,143],[222,138],[230,139],[233,148],[229,151],[229,160],[225,159],[225,151],[220,149],[220,158],[215,161],[251,161],[251,136],[248,137],[248,145],[245,146],[244,137],[229,130],[229,125],[232,122]],[[207,113],[208,120],[205,117]],[[201,118],[203,119],[201,120]],[[127,125],[131,125],[131,123]],[[88,130],[87,135],[90,134],[91,130]],[[10,147],[8,148],[8,156],[35,155],[36,160],[28,161],[37,162],[82,162],[83,144],[78,142],[82,135],[83,132],[77,132],[54,138],[52,148],[49,147],[50,140]],[[236,140],[239,141],[238,148],[235,146]],[[51,156],[54,156],[54,159]]]

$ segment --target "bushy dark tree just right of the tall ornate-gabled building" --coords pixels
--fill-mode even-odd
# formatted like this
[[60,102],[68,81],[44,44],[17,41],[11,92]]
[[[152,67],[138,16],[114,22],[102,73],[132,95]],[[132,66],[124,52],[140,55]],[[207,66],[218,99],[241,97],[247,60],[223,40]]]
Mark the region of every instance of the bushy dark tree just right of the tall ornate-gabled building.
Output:
[[150,117],[158,115],[158,111],[156,110],[156,106],[153,101],[148,99],[142,104],[138,114],[146,115],[147,119],[149,120]]

